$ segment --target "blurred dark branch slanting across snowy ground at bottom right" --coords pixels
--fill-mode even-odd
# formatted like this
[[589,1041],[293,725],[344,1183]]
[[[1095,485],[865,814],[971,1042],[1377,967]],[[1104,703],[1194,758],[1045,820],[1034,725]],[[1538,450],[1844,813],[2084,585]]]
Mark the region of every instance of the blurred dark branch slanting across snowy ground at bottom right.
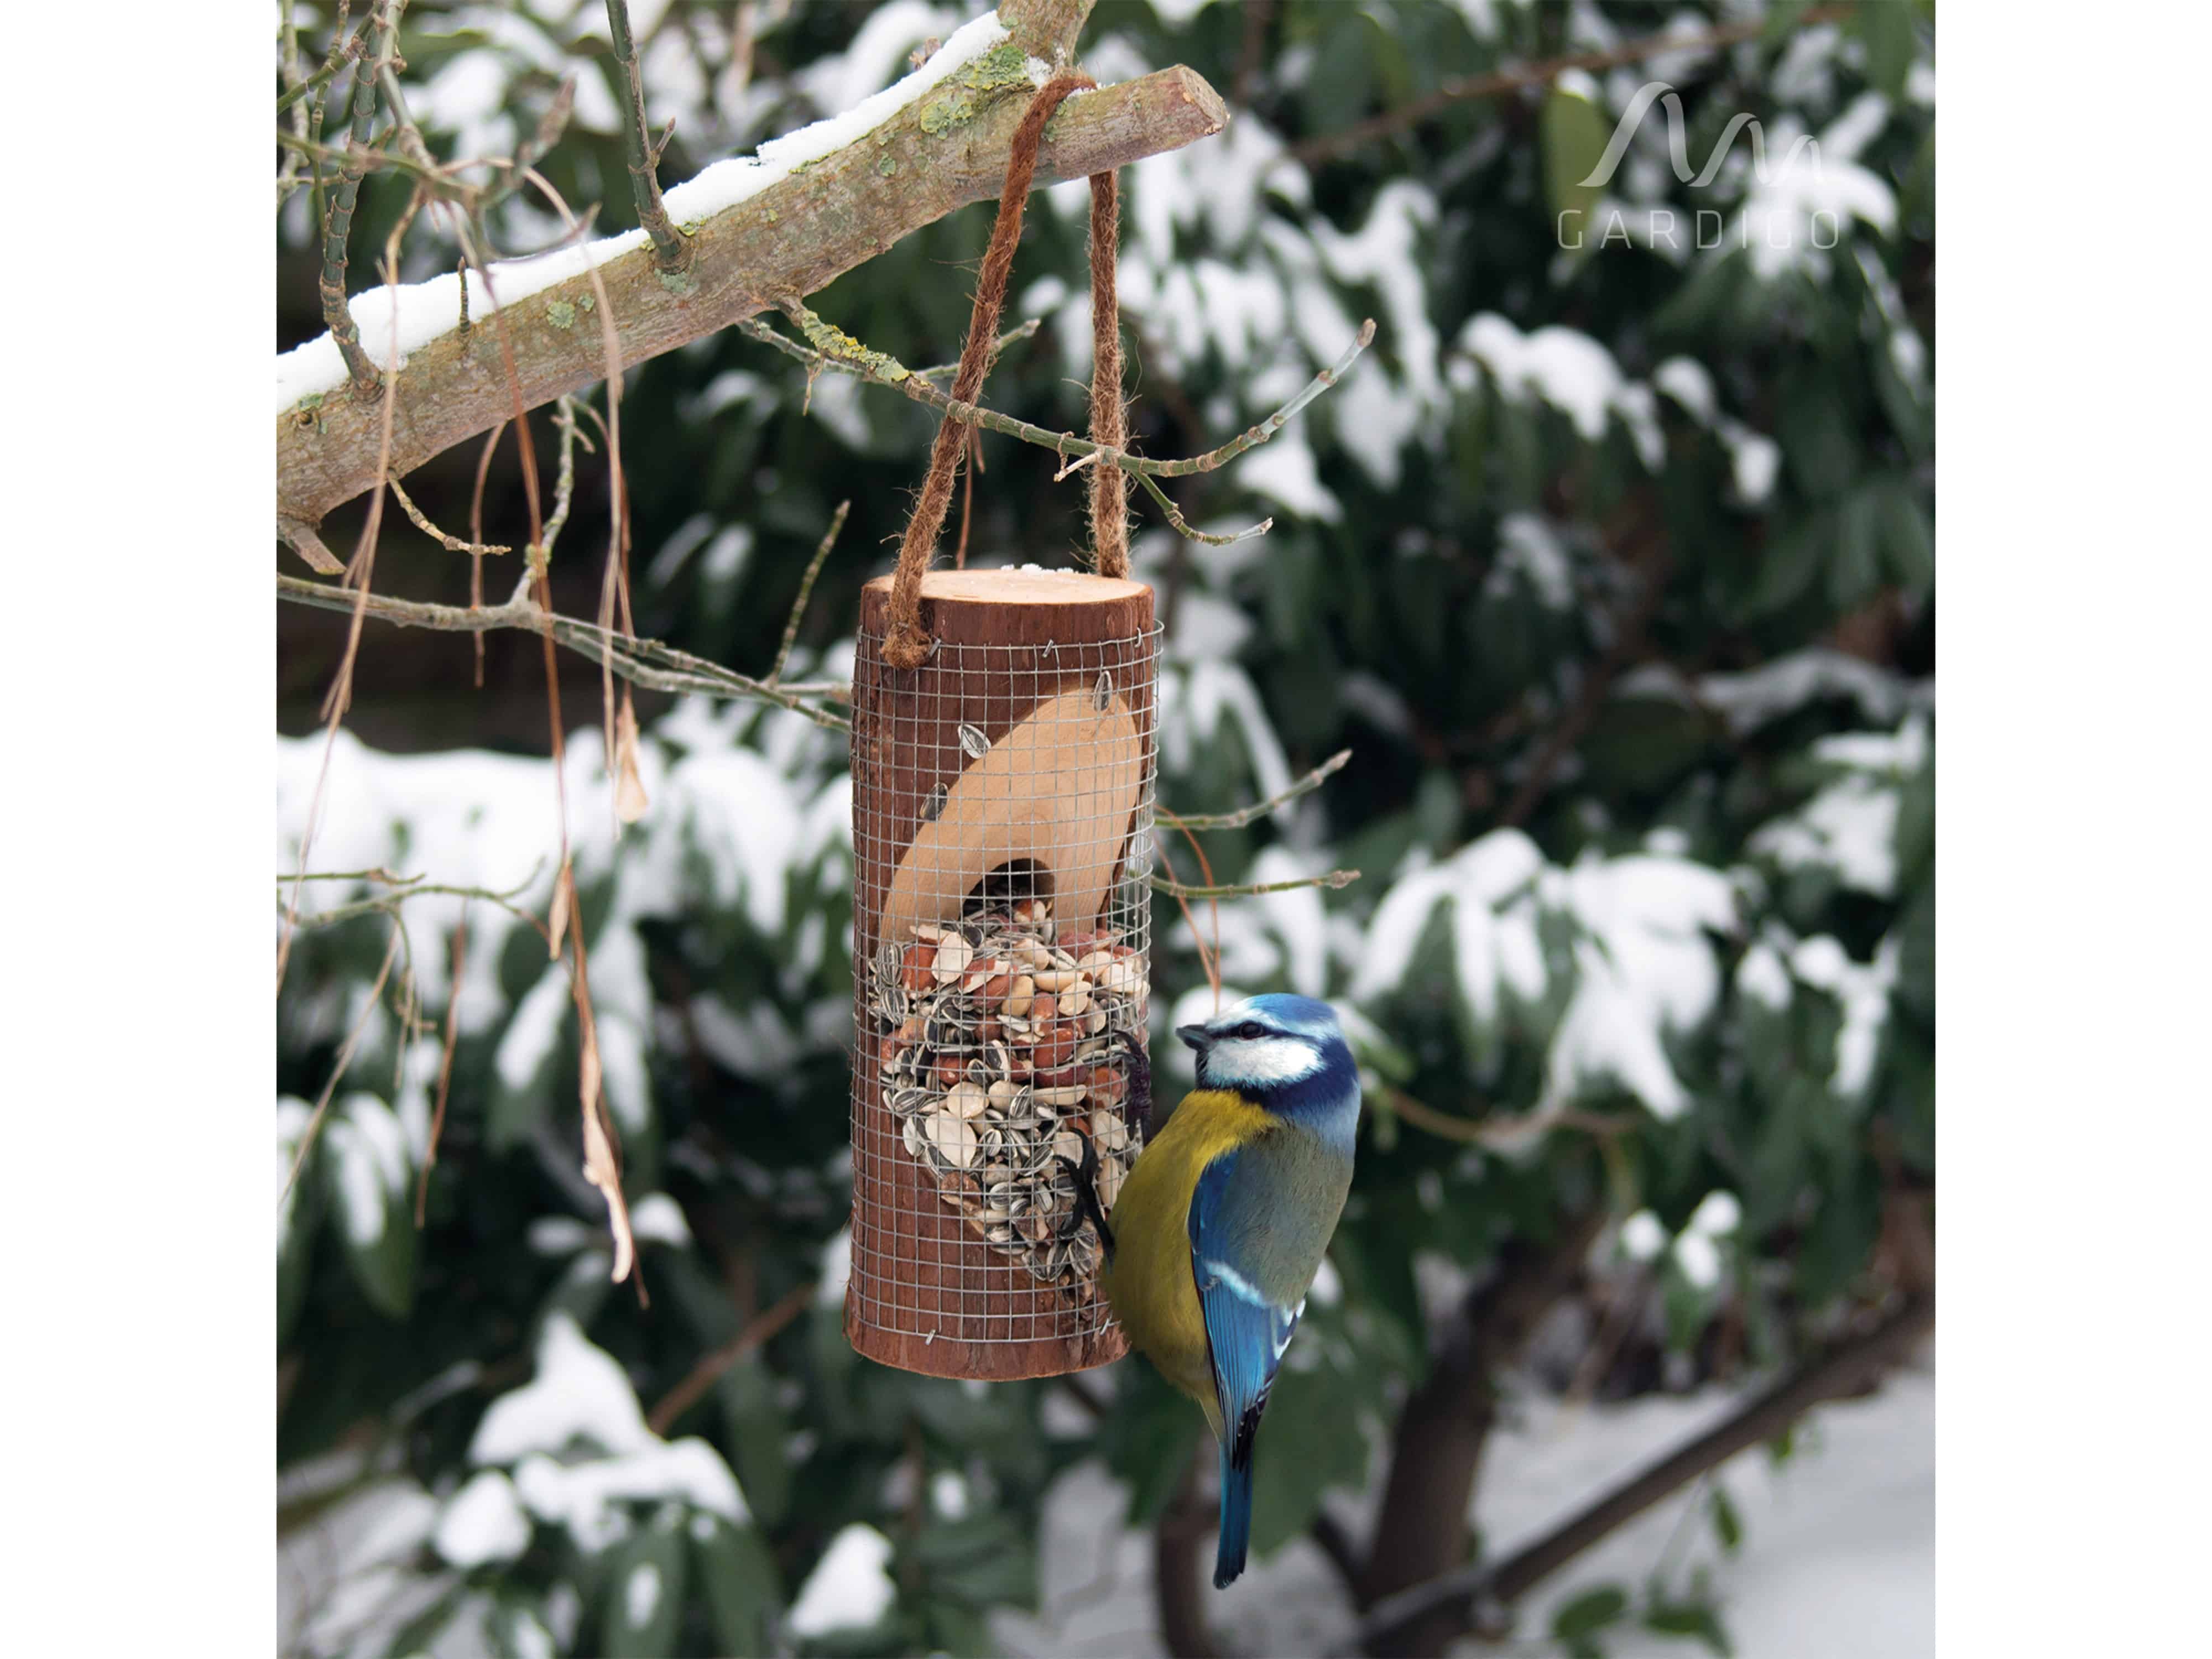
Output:
[[1358,1639],[1369,1652],[1385,1650],[1394,1635],[1416,1621],[1442,1617],[1453,1630],[1473,1628],[1480,1601],[1517,1601],[1608,1533],[1626,1526],[1672,1491],[1688,1486],[1739,1451],[1772,1440],[1825,1400],[1858,1394],[1900,1365],[1913,1345],[1936,1327],[1936,1296],[1911,1296],[1871,1332],[1807,1360],[1765,1394],[1747,1400],[1725,1422],[1714,1425],[1670,1455],[1630,1475],[1604,1498],[1586,1504],[1535,1542],[1486,1568],[1462,1568],[1429,1584],[1378,1601],[1360,1621]]

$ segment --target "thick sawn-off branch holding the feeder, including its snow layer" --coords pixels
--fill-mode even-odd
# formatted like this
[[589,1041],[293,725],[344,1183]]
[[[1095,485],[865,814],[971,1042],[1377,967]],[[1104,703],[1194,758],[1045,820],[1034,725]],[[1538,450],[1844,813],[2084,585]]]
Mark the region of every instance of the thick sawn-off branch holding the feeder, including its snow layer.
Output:
[[[599,330],[577,321],[595,303],[593,270],[624,365],[752,316],[772,296],[810,294],[953,208],[998,195],[1037,66],[1073,53],[1088,11],[1077,0],[1006,0],[845,115],[668,190],[668,215],[692,248],[688,272],[659,270],[646,234],[628,232],[493,265],[489,285],[469,272],[400,290],[405,365],[392,387],[389,471],[405,476],[513,414],[498,332],[460,325],[462,283],[476,319],[493,303],[515,307],[509,334],[524,407],[604,378]],[[1225,124],[1221,97],[1190,69],[1102,86],[1068,100],[1044,135],[1037,184],[1128,166]],[[369,338],[389,338],[380,290],[354,296],[352,319]],[[330,336],[279,358],[279,515],[312,526],[378,482],[380,403],[347,392]]]

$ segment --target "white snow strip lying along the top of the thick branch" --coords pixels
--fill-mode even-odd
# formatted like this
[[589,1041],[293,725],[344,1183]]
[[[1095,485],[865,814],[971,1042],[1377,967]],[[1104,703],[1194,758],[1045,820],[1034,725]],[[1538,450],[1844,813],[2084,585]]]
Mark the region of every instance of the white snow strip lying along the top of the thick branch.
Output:
[[[504,13],[498,13],[491,7],[478,7],[467,15],[476,15],[478,11],[487,18],[484,27],[507,27],[504,22],[495,22]],[[880,22],[880,18],[872,20],[872,24],[876,22]],[[664,195],[668,217],[679,226],[712,219],[717,212],[726,212],[728,208],[759,195],[768,186],[787,179],[794,168],[843,150],[847,144],[867,137],[872,131],[896,117],[947,75],[964,69],[975,58],[982,58],[987,51],[1006,40],[1006,35],[1009,31],[998,20],[998,13],[984,11],[953,31],[953,35],[927,64],[894,86],[887,86],[872,97],[863,97],[843,115],[832,115],[830,119],[814,122],[796,133],[770,139],[757,155],[717,161],[710,168],[703,168],[695,179],[675,186]],[[580,75],[577,113],[586,124],[595,124],[586,106],[593,91],[599,97],[606,95],[597,75]],[[613,126],[613,122],[608,119],[604,126]],[[498,310],[493,292],[498,294],[498,305],[513,305],[644,246],[646,232],[628,230],[619,237],[602,237],[599,241],[586,241],[573,248],[555,248],[553,252],[538,254],[535,259],[502,259],[491,265],[489,285],[478,272],[471,270],[467,272],[469,316],[482,319]],[[418,352],[438,336],[449,334],[460,323],[460,285],[462,276],[458,272],[445,272],[425,283],[403,283],[398,288],[378,283],[376,288],[354,294],[347,301],[347,310],[354,316],[354,325],[361,330],[361,343],[369,358],[378,367],[392,367],[394,363],[405,367],[411,352]],[[290,411],[301,398],[334,392],[341,385],[345,385],[345,358],[338,356],[338,343],[330,334],[319,334],[305,345],[276,356],[279,416]]]

